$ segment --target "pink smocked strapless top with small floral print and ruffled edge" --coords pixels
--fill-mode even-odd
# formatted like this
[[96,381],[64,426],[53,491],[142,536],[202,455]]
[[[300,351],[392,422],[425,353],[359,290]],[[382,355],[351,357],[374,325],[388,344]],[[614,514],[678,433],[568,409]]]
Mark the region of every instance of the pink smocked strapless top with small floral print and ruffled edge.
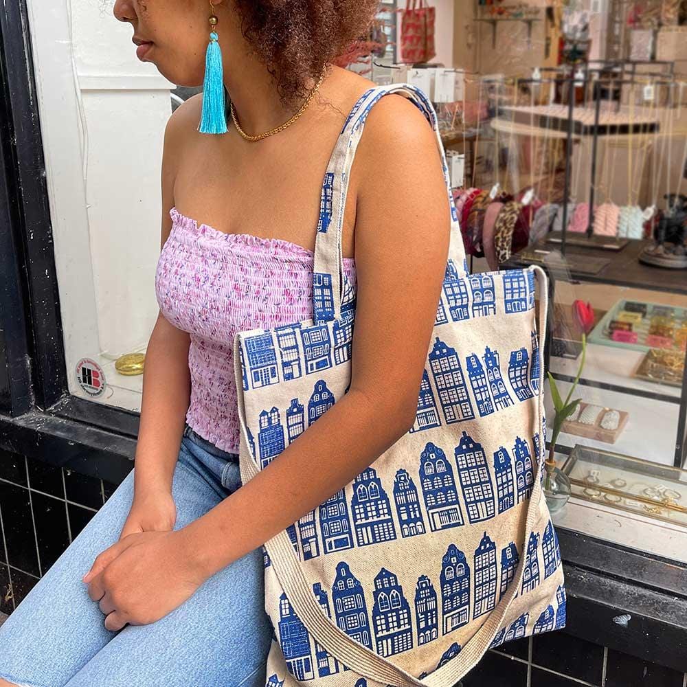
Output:
[[[186,423],[238,453],[234,335],[313,317],[314,254],[280,238],[225,234],[176,207],[170,216],[155,295],[165,319],[190,335]],[[355,290],[354,259],[343,258],[343,266]]]

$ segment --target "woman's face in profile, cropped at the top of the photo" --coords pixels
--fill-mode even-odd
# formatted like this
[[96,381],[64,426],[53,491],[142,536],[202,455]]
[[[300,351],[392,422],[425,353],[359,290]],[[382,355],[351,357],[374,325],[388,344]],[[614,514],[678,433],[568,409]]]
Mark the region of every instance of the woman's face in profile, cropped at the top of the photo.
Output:
[[[213,4],[221,41],[224,3]],[[136,44],[144,43],[131,45],[139,60],[152,62],[174,84],[195,87],[203,85],[210,10],[205,0],[115,0],[113,14],[131,23]]]

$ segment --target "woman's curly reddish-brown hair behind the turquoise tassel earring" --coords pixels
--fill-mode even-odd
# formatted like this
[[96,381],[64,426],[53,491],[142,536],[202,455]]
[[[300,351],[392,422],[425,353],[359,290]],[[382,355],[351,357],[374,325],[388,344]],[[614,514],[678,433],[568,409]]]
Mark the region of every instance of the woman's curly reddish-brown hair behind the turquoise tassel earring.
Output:
[[319,78],[359,36],[379,9],[379,0],[234,0],[241,33],[277,82],[284,104],[308,94],[308,78]]

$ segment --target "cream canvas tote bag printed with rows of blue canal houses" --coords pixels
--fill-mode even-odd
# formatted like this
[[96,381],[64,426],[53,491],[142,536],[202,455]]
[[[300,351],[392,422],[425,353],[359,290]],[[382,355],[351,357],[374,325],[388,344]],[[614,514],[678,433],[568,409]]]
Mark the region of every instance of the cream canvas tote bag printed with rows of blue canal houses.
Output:
[[356,301],[343,272],[343,208],[365,118],[394,92],[436,132],[452,218],[416,420],[264,544],[269,687],[453,687],[489,646],[565,624],[540,479],[545,273],[467,273],[436,113],[412,85],[368,90],[337,139],[322,186],[313,319],[236,334],[241,477],[255,477],[348,390]]

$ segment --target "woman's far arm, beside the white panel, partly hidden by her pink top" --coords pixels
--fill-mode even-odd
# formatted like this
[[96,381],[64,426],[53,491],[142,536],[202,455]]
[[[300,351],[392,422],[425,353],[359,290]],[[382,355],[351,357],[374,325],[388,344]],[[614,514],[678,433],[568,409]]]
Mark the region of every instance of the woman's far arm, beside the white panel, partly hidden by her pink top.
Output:
[[[172,228],[174,178],[181,155],[184,120],[190,113],[179,106],[167,122],[162,153],[161,194],[163,247]],[[134,493],[139,499],[149,493],[172,491],[172,475],[190,402],[188,348],[190,339],[161,313],[148,341],[143,375],[143,398],[135,455]],[[172,523],[173,524],[173,523]]]

